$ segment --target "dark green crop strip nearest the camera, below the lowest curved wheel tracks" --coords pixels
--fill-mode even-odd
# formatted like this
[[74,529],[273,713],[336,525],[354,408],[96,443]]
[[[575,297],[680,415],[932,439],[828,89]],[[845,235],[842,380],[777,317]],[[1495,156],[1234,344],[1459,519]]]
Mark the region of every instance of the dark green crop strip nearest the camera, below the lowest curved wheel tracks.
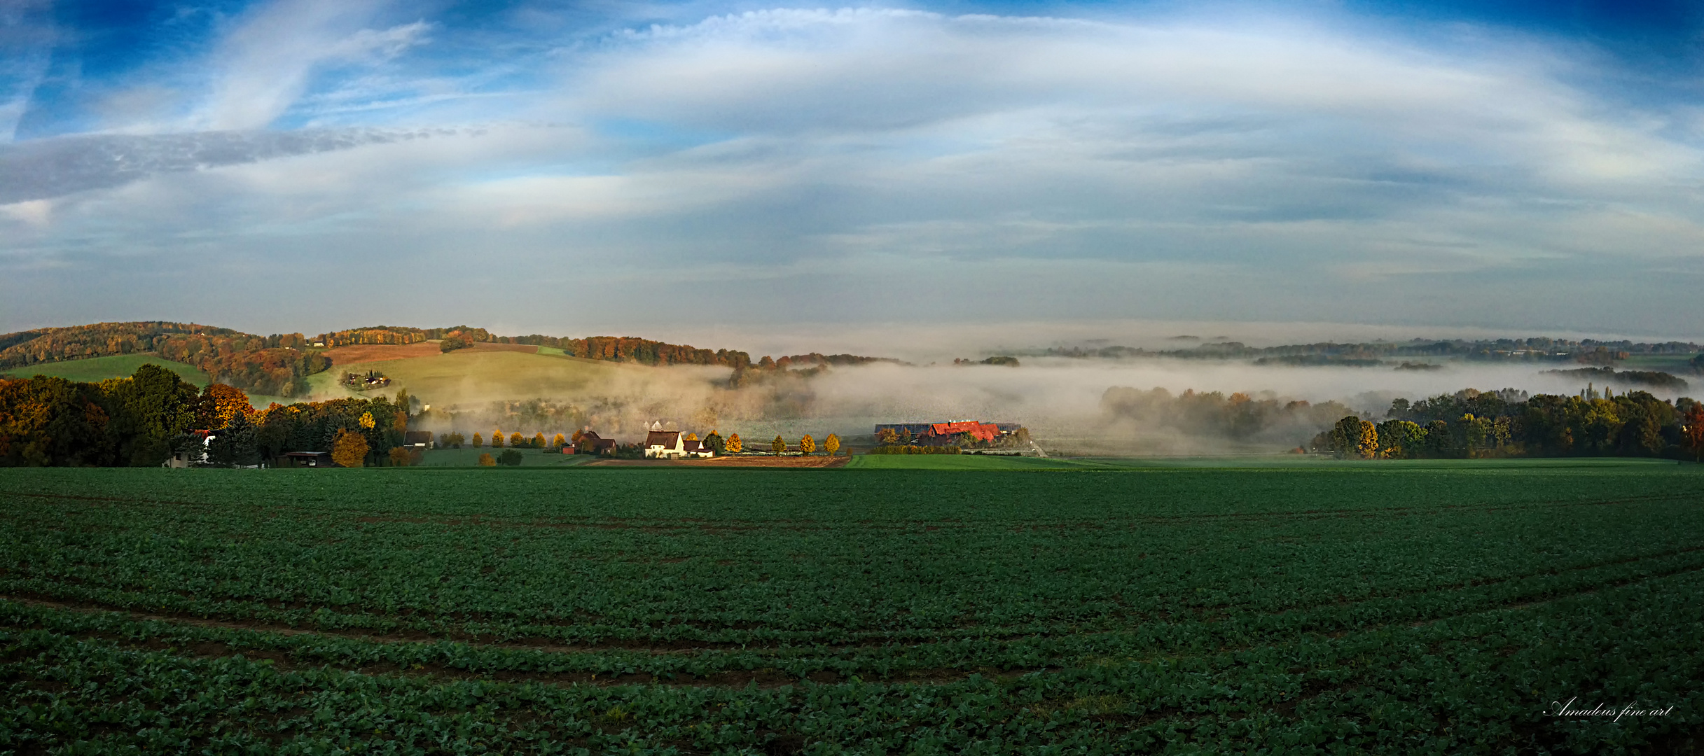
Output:
[[[1695,695],[1704,662],[1695,637],[1677,637],[1704,625],[1699,591],[1704,577],[1689,572],[1520,610],[1196,657],[1084,654],[1070,667],[1016,678],[779,688],[360,674],[312,662],[315,654],[337,656],[327,645],[382,644],[0,604],[0,684],[14,702],[0,710],[0,746],[1603,753],[1704,724]],[[237,656],[189,652],[206,642]],[[269,644],[290,642],[302,647],[290,649],[285,669],[256,659]],[[1576,695],[1675,708],[1663,719],[1612,724],[1546,715],[1552,700]]]

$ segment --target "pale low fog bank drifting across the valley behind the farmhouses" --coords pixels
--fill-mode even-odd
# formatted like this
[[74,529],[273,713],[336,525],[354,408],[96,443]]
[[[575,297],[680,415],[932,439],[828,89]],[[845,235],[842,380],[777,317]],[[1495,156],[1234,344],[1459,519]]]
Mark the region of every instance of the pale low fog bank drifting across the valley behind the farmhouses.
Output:
[[[1281,451],[1307,441],[1339,412],[1382,417],[1394,398],[1425,398],[1462,388],[1517,388],[1528,393],[1576,393],[1583,380],[1546,375],[1569,368],[1557,363],[1445,363],[1442,369],[1252,366],[1244,361],[1131,359],[1099,361],[1026,358],[1005,366],[905,366],[878,363],[832,368],[811,376],[770,373],[731,388],[721,368],[612,369],[579,387],[506,387],[494,395],[469,380],[453,397],[428,397],[436,410],[423,417],[433,431],[573,432],[591,427],[622,441],[642,438],[646,424],[671,422],[683,431],[740,432],[748,439],[774,434],[821,438],[869,436],[876,422],[980,419],[1019,422],[1051,451],[1063,453],[1232,453]],[[1310,410],[1287,410],[1242,443],[1215,438],[1205,427],[1157,427],[1148,415],[1109,414],[1108,388],[1164,388],[1223,395],[1283,407],[1307,402]],[[528,388],[535,388],[528,392]],[[1598,388],[1603,388],[1598,385]],[[1617,392],[1639,387],[1610,387]],[[520,397],[518,393],[530,393]],[[1663,398],[1670,392],[1653,390]],[[1333,405],[1336,402],[1336,405]],[[1324,405],[1324,407],[1322,407]],[[1174,421],[1176,422],[1176,421]]]

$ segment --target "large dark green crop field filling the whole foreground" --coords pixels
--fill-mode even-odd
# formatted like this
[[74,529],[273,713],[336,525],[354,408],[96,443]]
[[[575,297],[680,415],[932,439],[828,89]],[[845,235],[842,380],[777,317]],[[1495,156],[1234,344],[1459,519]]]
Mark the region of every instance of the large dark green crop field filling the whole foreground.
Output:
[[1704,727],[1699,465],[51,468],[0,472],[0,524],[10,753],[1632,754]]

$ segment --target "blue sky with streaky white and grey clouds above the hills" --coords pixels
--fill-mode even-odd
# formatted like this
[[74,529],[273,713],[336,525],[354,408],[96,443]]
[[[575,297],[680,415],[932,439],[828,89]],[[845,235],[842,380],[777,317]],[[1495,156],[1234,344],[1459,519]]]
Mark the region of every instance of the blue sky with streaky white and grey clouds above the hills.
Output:
[[1678,2],[0,0],[0,330],[1704,337],[1701,41]]

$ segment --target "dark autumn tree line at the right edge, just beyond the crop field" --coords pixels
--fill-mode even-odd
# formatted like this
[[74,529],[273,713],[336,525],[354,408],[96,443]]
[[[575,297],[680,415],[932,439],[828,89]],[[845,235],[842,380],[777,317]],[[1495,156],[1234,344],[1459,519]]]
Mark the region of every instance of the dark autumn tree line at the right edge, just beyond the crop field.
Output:
[[1344,415],[1314,436],[1341,458],[1704,456],[1704,404],[1646,392],[1527,397],[1472,388],[1419,402],[1397,398],[1382,422]]

